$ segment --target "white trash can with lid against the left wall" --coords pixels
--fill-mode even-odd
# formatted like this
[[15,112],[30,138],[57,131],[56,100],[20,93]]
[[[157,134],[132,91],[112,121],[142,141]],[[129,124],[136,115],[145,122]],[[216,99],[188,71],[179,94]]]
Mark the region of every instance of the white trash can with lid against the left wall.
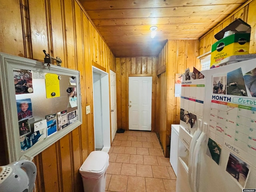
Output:
[[92,151],[79,169],[82,175],[84,192],[105,192],[108,153]]

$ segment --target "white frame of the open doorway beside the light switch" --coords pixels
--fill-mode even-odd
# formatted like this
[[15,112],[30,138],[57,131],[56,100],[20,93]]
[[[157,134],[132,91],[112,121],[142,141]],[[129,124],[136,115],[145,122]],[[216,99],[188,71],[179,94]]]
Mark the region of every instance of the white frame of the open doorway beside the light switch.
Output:
[[[109,79],[108,79],[108,73],[92,66],[92,77],[96,74],[100,74],[100,89],[101,89],[101,102],[102,102],[102,109],[101,111],[97,111],[97,109],[94,109],[95,113],[102,113],[102,132],[103,132],[103,148],[102,151],[108,152],[110,149],[110,102],[109,102]],[[94,91],[93,91],[93,97],[94,97]],[[95,115],[94,115],[95,117]],[[97,119],[94,118],[94,124],[97,121]],[[95,127],[94,127],[94,136],[95,136]],[[94,138],[94,146],[95,146],[95,140],[97,138]]]

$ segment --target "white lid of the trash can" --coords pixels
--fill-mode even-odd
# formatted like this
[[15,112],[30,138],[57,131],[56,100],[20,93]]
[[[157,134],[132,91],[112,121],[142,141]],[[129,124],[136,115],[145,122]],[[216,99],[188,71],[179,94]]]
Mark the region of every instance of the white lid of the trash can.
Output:
[[108,168],[108,153],[104,151],[92,151],[86,158],[80,172],[102,173]]

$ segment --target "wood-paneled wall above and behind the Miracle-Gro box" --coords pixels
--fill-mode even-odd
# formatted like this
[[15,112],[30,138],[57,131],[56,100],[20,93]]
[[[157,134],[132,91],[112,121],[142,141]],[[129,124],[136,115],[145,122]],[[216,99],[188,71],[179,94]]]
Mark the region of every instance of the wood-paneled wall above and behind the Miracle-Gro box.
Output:
[[210,30],[207,34],[200,38],[200,55],[211,51],[212,44],[214,44],[217,40],[214,38],[214,35],[218,33],[220,30],[228,26],[231,22],[236,20],[237,18],[241,18],[245,22],[247,22],[251,27],[251,38],[250,38],[250,49],[249,53],[256,53],[256,0],[249,0],[246,4],[232,13],[228,18],[226,18],[223,22],[215,26],[212,30]]

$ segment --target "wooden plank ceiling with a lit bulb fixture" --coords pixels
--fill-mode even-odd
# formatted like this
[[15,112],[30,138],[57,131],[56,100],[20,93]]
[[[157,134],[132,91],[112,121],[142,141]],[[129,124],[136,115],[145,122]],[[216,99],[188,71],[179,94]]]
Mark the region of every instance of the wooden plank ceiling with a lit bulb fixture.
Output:
[[247,0],[79,1],[116,57],[136,57],[157,56],[167,40],[199,39]]

